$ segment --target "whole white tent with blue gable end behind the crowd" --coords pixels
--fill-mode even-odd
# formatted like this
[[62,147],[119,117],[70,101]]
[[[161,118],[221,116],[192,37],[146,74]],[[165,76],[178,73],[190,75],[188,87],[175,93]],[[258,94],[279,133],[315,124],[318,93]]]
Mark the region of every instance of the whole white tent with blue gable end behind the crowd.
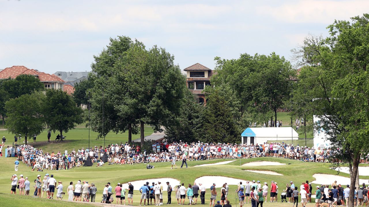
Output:
[[263,144],[268,140],[297,140],[299,134],[292,127],[254,127],[241,134],[242,144]]

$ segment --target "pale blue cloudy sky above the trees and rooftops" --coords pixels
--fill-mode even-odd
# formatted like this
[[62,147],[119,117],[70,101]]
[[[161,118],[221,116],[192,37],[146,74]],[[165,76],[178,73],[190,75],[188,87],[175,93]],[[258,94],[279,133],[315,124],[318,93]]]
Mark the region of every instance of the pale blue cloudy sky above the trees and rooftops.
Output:
[[214,69],[214,57],[290,50],[309,34],[328,36],[337,20],[367,13],[368,0],[3,0],[0,70],[90,71],[109,38],[129,36],[165,48],[184,68]]

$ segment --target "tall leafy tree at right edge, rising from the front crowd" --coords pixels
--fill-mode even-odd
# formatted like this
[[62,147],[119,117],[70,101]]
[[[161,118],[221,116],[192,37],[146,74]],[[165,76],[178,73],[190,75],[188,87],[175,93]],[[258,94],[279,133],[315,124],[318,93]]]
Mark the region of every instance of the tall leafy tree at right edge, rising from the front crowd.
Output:
[[[336,20],[328,29],[327,38],[310,36],[293,52],[308,64],[299,79],[311,88],[308,109],[320,119],[315,128],[328,134],[332,154],[348,162],[355,186],[360,157],[369,152],[369,14]],[[354,187],[348,200],[353,206]]]

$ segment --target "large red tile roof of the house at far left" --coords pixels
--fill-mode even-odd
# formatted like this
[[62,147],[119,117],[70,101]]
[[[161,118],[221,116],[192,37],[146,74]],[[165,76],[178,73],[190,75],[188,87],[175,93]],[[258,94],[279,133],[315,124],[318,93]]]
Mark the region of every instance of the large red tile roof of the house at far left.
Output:
[[36,76],[41,82],[62,82],[64,83],[64,81],[61,78],[55,76],[54,74],[50,75],[48,73],[39,72],[34,69],[28,69],[25,66],[12,66],[12,67],[7,67],[4,70],[1,70],[0,79],[6,79],[9,77],[13,79],[21,74]]

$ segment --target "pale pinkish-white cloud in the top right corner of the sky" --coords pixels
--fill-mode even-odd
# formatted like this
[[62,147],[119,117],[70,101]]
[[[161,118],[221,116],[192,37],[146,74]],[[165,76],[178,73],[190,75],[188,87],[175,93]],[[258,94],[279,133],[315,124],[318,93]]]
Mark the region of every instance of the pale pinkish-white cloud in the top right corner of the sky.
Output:
[[335,19],[348,20],[367,13],[368,8],[368,0],[300,0],[289,1],[281,6],[258,6],[256,11],[283,22],[331,24]]

